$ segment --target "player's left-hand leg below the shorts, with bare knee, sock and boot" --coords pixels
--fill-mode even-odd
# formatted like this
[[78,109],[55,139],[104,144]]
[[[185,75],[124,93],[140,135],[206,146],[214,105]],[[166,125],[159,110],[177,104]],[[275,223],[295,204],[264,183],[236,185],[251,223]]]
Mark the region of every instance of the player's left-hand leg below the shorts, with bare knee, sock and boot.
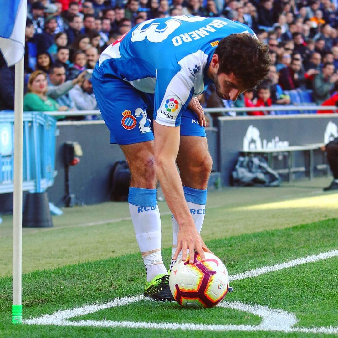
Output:
[[147,273],[144,294],[155,299],[172,299],[161,253],[162,232],[156,200],[153,141],[121,145],[121,149],[131,172],[128,202]]

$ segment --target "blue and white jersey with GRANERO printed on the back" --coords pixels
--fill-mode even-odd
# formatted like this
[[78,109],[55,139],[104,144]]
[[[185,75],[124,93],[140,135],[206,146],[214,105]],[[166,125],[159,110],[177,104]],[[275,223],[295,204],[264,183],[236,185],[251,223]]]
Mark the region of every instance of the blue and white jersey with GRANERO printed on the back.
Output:
[[154,93],[154,120],[177,126],[181,108],[212,82],[207,71],[218,42],[236,33],[255,35],[248,26],[224,18],[147,20],[102,52],[99,70]]

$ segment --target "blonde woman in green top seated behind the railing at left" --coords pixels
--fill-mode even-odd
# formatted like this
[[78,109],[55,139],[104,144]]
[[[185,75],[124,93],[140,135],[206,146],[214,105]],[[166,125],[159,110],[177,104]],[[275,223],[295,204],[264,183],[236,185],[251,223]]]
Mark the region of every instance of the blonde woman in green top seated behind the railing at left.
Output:
[[[28,79],[28,93],[23,100],[23,110],[31,112],[65,112],[69,108],[60,106],[55,100],[46,96],[47,75],[41,70],[33,72]],[[62,119],[64,116],[57,116]]]

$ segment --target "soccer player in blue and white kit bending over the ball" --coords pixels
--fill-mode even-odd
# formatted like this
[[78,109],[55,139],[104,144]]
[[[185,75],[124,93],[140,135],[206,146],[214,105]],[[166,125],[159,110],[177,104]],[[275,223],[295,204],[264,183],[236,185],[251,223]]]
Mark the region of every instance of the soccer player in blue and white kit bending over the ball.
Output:
[[102,52],[93,89],[111,143],[119,144],[131,171],[128,202],[146,296],[173,299],[161,254],[157,179],[173,215],[171,267],[188,250],[202,260],[210,251],[199,232],[212,159],[196,96],[214,82],[219,97],[235,101],[267,76],[269,65],[268,47],[255,33],[224,18],[148,20]]

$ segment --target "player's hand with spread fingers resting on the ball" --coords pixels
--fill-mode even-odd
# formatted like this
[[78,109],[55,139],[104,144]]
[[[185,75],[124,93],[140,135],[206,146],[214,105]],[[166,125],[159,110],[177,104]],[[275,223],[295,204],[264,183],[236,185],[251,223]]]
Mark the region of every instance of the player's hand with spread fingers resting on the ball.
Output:
[[187,249],[190,252],[189,263],[194,263],[194,250],[199,253],[203,262],[206,260],[204,251],[211,252],[196,230],[195,224],[180,227],[177,235],[177,249],[173,259],[176,260],[179,252],[182,250],[182,260],[186,261]]

